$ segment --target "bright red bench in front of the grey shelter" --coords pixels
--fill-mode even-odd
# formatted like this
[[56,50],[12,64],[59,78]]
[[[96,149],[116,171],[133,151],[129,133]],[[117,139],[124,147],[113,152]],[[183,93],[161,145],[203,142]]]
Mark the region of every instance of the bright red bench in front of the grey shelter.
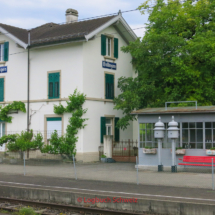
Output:
[[184,156],[183,159],[179,158],[179,160],[182,160],[184,163],[178,163],[178,165],[212,166],[212,158],[213,158],[213,163],[215,164],[215,157],[213,156]]

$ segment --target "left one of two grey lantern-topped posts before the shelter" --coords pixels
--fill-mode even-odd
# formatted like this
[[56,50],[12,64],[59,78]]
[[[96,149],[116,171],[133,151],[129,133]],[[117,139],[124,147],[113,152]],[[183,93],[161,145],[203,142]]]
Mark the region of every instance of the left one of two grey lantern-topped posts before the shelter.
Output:
[[158,139],[158,172],[163,171],[163,165],[161,163],[161,150],[162,139],[164,138],[164,124],[161,122],[161,118],[158,117],[158,122],[155,123],[154,137]]

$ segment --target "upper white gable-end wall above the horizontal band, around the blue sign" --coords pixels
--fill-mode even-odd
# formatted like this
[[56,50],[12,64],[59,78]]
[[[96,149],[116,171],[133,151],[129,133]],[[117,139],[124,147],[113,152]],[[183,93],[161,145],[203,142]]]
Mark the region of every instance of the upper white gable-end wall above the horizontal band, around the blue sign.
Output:
[[[119,40],[119,57],[114,63],[117,64],[117,70],[104,69],[102,68],[102,61],[104,56],[101,55],[101,34],[113,34],[115,38]],[[120,91],[117,88],[118,79],[121,76],[131,77],[132,76],[132,64],[130,53],[123,53],[120,47],[127,46],[127,43],[117,33],[113,26],[105,29],[101,33],[97,34],[96,38],[89,40],[84,43],[84,92],[87,93],[88,97],[103,98],[104,99],[104,73],[113,72],[115,73],[115,95],[117,96]],[[106,60],[113,62],[112,60]]]

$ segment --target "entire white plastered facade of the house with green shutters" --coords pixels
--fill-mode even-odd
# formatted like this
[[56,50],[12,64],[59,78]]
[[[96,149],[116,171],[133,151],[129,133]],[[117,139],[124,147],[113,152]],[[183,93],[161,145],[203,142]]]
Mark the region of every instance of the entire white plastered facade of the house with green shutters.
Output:
[[[119,57],[114,62],[116,70],[102,68],[104,59],[101,55],[101,34],[113,35],[119,41]],[[123,32],[121,33],[123,35]],[[66,105],[68,96],[78,89],[86,94],[84,108],[88,118],[87,126],[78,133],[77,159],[83,161],[98,160],[100,143],[100,118],[122,117],[122,111],[114,110],[112,100],[105,99],[105,73],[114,75],[115,96],[120,91],[117,88],[118,78],[133,76],[131,55],[123,53],[120,47],[127,42],[117,33],[114,25],[98,32],[94,39],[88,41],[68,42],[51,46],[30,49],[30,129],[41,131],[47,129],[46,117],[58,117],[53,112],[53,105]],[[7,105],[13,101],[27,104],[27,50],[19,48],[16,42],[7,35],[0,35],[0,43],[9,41],[9,60],[0,62],[0,67],[7,66],[7,73],[0,74],[5,78],[4,102]],[[19,53],[20,52],[20,53]],[[19,53],[14,54],[13,53]],[[48,74],[60,73],[60,98],[48,99]],[[27,105],[26,105],[27,107]],[[27,114],[19,111],[11,114],[12,123],[6,124],[6,132],[20,132],[27,129]],[[65,133],[71,114],[62,116],[62,133]],[[120,139],[132,139],[133,129],[120,130]],[[136,135],[135,135],[136,136]],[[137,138],[137,137],[136,137]]]

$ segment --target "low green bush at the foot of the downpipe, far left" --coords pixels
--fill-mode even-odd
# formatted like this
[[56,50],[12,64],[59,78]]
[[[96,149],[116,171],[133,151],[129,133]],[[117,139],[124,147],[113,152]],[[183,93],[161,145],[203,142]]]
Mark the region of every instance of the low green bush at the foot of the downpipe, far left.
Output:
[[8,143],[7,149],[11,152],[41,149],[44,144],[42,134],[33,135],[33,130],[30,132],[22,131],[20,135],[5,135],[0,138],[0,146],[4,143]]

